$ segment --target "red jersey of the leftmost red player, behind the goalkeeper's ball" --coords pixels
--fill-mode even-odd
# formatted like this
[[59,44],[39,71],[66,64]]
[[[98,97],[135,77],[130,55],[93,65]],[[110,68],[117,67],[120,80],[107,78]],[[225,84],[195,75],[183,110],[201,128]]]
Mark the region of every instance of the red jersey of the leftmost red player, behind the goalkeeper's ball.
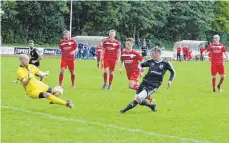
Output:
[[77,43],[73,39],[61,40],[59,43],[61,55],[63,60],[74,60],[75,54],[70,55],[70,53],[77,49]]

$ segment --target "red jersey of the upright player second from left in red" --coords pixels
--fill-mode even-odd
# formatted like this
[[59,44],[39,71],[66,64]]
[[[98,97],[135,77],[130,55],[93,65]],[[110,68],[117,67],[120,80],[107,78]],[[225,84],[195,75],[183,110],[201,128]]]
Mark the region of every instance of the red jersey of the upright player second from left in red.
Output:
[[111,41],[106,39],[103,41],[104,59],[117,60],[120,43],[117,40]]

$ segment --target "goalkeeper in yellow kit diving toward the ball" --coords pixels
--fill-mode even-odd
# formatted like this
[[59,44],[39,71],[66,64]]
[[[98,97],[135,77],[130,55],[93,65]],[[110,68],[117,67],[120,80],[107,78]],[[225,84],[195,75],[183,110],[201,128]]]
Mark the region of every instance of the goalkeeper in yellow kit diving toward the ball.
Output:
[[33,99],[47,98],[50,103],[64,105],[72,108],[73,104],[70,100],[62,100],[54,96],[58,91],[35,78],[35,75],[40,77],[47,76],[48,72],[40,71],[36,66],[29,64],[29,57],[26,54],[19,56],[20,67],[17,69],[17,77],[25,88],[27,95]]

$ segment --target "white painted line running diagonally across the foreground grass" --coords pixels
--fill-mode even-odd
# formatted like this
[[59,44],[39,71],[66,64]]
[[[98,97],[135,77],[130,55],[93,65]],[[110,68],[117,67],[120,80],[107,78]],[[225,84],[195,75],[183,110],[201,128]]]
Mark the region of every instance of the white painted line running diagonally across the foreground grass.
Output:
[[54,116],[54,115],[51,115],[51,114],[46,114],[46,113],[42,113],[42,112],[34,112],[34,111],[31,111],[31,110],[26,110],[26,109],[22,109],[22,108],[13,107],[13,106],[3,106],[3,105],[1,105],[1,108],[10,109],[10,110],[14,110],[14,111],[20,111],[20,112],[29,113],[29,114],[41,115],[41,116],[45,116],[45,117],[53,118],[53,119],[58,119],[58,120],[79,122],[81,124],[88,124],[88,125],[95,125],[95,126],[106,127],[106,128],[113,128],[113,129],[117,129],[117,130],[128,131],[128,132],[131,132],[131,133],[142,133],[144,135],[149,135],[149,136],[177,139],[177,140],[180,140],[181,142],[212,143],[210,141],[205,141],[205,140],[196,140],[196,139],[190,139],[190,138],[182,138],[182,137],[179,137],[179,136],[164,135],[164,134],[159,134],[159,133],[155,133],[155,132],[147,132],[147,131],[144,131],[144,130],[141,130],[141,129],[124,128],[124,127],[120,127],[120,126],[112,125],[112,124],[102,124],[102,123],[90,122],[90,121],[85,121],[85,120],[80,120],[80,119],[73,119],[73,118],[65,118],[65,117],[60,117],[60,116]]

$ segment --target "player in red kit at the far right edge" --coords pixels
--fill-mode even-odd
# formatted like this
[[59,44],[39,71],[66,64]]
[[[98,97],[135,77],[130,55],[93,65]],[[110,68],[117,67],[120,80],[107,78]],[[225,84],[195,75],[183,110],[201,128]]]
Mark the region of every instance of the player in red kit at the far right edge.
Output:
[[228,60],[227,49],[226,47],[219,42],[220,36],[214,35],[213,43],[210,44],[206,52],[209,52],[211,55],[211,75],[212,75],[212,88],[213,92],[216,91],[215,84],[216,84],[216,74],[219,73],[220,81],[217,85],[218,91],[221,92],[221,85],[224,81],[225,69],[224,69],[224,59],[223,54],[225,55],[226,59]]

